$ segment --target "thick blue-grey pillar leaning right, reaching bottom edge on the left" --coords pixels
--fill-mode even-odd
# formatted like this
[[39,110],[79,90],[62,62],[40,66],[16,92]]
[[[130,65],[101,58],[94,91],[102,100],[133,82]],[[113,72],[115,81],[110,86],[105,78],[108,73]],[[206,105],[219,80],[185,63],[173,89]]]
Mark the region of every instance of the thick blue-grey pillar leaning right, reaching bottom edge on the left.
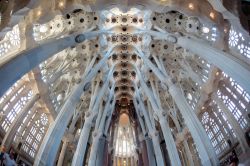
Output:
[[[108,57],[109,54],[107,54],[106,56]],[[56,120],[51,123],[50,128],[48,129],[47,134],[44,137],[43,142],[36,155],[34,165],[52,165],[52,163],[54,162],[63,134],[67,128],[68,123],[70,122],[71,117],[74,114],[72,108],[76,108],[77,104],[80,101],[80,97],[87,90],[85,89],[86,86],[90,84],[92,78],[96,76],[98,70],[103,66],[103,63],[105,63],[105,58],[103,58],[98,64],[96,64],[96,66],[90,71],[85,71],[82,76],[83,81],[73,87],[67,101],[59,111]]]

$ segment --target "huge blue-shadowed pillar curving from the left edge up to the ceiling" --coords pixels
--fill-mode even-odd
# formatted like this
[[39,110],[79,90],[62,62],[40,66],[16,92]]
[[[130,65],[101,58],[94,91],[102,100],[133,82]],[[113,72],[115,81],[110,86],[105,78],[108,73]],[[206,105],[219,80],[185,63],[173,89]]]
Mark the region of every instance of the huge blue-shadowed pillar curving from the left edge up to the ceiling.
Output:
[[[0,63],[0,96],[2,96],[17,80],[28,73],[41,62],[55,55],[56,53],[91,39],[107,31],[87,32],[80,35],[71,35],[56,40],[48,40],[37,47],[21,52],[12,59]],[[8,75],[6,75],[8,73]]]

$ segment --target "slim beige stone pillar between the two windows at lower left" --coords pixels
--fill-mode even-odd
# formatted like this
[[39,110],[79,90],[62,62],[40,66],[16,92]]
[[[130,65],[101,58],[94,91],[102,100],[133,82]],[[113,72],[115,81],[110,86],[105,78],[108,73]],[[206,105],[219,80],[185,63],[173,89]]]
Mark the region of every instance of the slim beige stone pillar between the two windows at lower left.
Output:
[[33,95],[30,101],[24,106],[24,108],[15,118],[15,120],[11,123],[10,128],[8,129],[2,141],[2,145],[6,147],[7,151],[10,148],[11,143],[13,143],[13,139],[16,135],[17,129],[20,127],[20,122],[22,122],[23,119],[27,116],[29,110],[34,106],[34,104],[39,100],[39,98],[39,94]]

